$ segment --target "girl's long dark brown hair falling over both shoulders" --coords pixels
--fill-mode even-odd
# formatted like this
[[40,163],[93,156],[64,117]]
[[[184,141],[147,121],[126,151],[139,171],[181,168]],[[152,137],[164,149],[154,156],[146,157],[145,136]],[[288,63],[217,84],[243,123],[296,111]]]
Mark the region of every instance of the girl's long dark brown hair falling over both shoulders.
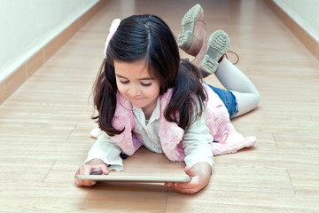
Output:
[[180,59],[175,37],[163,20],[155,15],[134,15],[121,20],[108,45],[106,59],[93,88],[98,115],[92,119],[96,119],[99,128],[108,135],[121,134],[123,131],[116,130],[112,125],[118,91],[114,60],[143,60],[150,75],[159,81],[159,95],[173,88],[172,98],[164,112],[168,122],[176,122],[183,130],[187,130],[191,122],[202,114],[206,92],[197,67],[186,59]]

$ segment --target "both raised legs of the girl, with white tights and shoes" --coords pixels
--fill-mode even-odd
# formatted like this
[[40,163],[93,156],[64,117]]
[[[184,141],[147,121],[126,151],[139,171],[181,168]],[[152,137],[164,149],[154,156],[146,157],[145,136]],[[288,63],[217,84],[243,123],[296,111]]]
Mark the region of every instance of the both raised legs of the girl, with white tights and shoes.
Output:
[[[223,57],[230,48],[230,38],[222,30],[207,35],[204,10],[193,6],[183,17],[183,33],[177,37],[178,46],[194,56],[191,61],[203,76],[214,75],[237,100],[235,117],[253,110],[260,101],[260,93],[248,77]],[[222,97],[221,97],[222,99]]]

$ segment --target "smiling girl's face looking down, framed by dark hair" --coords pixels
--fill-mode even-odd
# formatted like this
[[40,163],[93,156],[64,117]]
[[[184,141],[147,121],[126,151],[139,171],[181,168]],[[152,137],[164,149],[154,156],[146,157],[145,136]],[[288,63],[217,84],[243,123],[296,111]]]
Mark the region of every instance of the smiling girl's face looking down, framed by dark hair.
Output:
[[151,77],[144,63],[114,61],[114,69],[121,94],[133,106],[142,108],[145,115],[152,114],[159,97],[159,81]]

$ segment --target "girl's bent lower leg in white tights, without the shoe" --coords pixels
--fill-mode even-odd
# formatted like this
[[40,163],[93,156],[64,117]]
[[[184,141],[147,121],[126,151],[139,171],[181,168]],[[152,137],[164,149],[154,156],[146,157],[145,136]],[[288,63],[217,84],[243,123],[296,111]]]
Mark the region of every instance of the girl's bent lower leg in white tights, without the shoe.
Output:
[[238,113],[235,117],[253,110],[260,101],[260,93],[253,83],[228,59],[222,59],[214,73],[222,85],[237,99]]

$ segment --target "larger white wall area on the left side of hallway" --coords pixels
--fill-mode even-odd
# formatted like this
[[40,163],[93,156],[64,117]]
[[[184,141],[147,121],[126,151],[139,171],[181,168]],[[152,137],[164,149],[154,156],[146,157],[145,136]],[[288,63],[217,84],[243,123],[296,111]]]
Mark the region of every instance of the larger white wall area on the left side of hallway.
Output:
[[98,0],[0,0],[0,82]]

